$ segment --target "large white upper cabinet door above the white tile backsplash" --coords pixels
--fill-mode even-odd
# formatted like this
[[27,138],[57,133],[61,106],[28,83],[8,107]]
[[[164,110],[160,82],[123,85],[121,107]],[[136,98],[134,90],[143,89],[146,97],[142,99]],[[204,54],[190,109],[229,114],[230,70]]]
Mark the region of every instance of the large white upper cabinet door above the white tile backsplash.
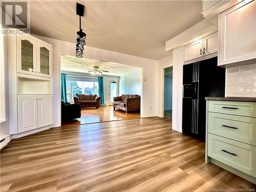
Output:
[[256,1],[248,2],[219,15],[219,66],[256,58]]

